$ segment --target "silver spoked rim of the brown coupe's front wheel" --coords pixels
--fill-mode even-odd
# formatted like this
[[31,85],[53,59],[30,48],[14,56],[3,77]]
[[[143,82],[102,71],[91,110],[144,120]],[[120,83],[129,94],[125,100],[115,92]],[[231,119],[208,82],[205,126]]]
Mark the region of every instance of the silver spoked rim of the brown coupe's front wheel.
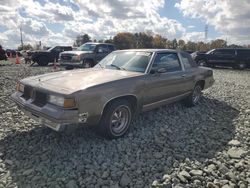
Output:
[[127,106],[117,107],[111,116],[111,129],[115,134],[124,131],[130,121],[130,110]]

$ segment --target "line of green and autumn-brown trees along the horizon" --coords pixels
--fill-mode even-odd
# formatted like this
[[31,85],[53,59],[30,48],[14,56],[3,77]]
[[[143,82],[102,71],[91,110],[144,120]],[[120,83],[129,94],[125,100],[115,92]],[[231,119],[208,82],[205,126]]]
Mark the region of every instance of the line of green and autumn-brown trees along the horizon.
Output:
[[[117,49],[131,49],[131,48],[169,48],[169,49],[181,49],[189,51],[209,51],[214,48],[250,48],[249,45],[235,45],[227,44],[227,41],[223,39],[216,39],[209,42],[192,42],[185,41],[182,39],[167,39],[161,35],[151,35],[144,32],[139,33],[129,33],[129,32],[120,32],[117,33],[113,38],[106,40],[96,40],[91,39],[88,34],[79,35],[76,37],[76,40],[73,44],[74,47],[78,47],[86,42],[104,42],[104,43],[113,43],[116,45]],[[25,50],[34,49],[30,44],[23,45]],[[22,47],[19,46],[18,50],[22,50]]]

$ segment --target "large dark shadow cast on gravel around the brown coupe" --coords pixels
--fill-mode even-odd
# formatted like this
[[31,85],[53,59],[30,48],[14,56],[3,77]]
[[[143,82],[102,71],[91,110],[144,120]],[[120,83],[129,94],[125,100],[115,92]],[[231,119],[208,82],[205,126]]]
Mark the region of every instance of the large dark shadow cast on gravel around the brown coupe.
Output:
[[69,180],[109,187],[124,173],[131,187],[148,187],[184,160],[204,162],[223,151],[238,113],[206,97],[193,108],[176,103],[139,115],[117,140],[89,128],[65,134],[37,127],[9,133],[0,141],[0,157],[18,187],[64,187]]

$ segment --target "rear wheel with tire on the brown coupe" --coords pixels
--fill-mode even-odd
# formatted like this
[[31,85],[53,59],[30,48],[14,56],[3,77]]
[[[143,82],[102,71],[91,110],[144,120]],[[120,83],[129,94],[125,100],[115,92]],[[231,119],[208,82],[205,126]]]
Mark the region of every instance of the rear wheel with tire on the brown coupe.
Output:
[[199,103],[201,96],[202,96],[202,86],[201,84],[197,83],[194,86],[192,93],[184,100],[185,105],[187,107],[196,106]]

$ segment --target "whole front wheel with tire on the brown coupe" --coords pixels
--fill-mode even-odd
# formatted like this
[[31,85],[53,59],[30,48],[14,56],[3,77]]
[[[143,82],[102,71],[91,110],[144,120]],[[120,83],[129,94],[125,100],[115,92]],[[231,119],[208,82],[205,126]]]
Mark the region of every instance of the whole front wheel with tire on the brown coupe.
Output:
[[127,100],[116,100],[105,107],[97,131],[107,139],[126,134],[132,119],[132,107]]

